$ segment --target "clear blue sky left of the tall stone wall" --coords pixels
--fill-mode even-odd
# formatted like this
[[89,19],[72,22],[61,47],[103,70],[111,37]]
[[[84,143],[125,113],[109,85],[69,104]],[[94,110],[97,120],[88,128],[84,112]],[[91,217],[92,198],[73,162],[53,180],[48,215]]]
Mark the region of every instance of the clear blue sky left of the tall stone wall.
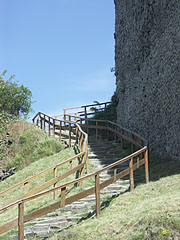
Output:
[[0,0],[0,7],[0,71],[32,91],[35,112],[110,100],[114,0]]

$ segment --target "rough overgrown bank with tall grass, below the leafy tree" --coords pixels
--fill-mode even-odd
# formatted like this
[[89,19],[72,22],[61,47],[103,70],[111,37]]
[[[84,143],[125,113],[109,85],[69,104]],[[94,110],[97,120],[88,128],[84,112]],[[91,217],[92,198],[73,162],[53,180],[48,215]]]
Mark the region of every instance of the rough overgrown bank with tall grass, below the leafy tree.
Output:
[[0,165],[3,168],[22,169],[42,157],[58,153],[62,144],[26,121],[14,121],[4,130]]

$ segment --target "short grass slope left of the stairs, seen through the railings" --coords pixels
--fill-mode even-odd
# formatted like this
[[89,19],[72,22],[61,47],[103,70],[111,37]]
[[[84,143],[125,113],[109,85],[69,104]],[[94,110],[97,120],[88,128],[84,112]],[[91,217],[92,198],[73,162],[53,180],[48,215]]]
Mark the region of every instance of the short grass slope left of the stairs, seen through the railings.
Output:
[[[21,182],[22,180],[29,178],[29,177],[47,169],[48,167],[54,166],[55,164],[62,162],[74,155],[75,155],[74,150],[72,148],[67,148],[57,154],[54,154],[52,156],[45,157],[36,162],[33,162],[33,163],[29,164],[27,167],[25,167],[24,169],[19,170],[13,176],[7,178],[3,182],[0,182],[0,191],[3,191],[4,189],[7,189],[7,188],[13,186],[14,184]],[[75,167],[78,165],[78,160],[74,160],[72,163],[73,163],[72,167]],[[70,170],[69,164],[65,164],[63,166],[58,167],[58,176],[68,170]],[[92,170],[91,165],[90,165],[90,170]],[[86,173],[86,170],[84,173]],[[76,173],[66,177],[61,182],[59,182],[58,185],[61,185],[68,181],[72,181],[75,179],[75,177],[77,177]],[[53,178],[53,171],[50,171],[43,176],[37,177],[36,179],[34,179],[30,182],[29,190],[32,190],[35,187],[42,185],[43,183],[45,183],[46,181],[48,181],[52,178]],[[83,190],[83,188],[87,188],[92,185],[94,185],[93,178],[88,179],[86,182],[84,182],[84,184],[82,186],[81,185],[78,185],[78,186],[71,185],[71,186],[67,187],[67,189],[66,189],[66,196],[69,197],[75,193],[81,192]],[[50,187],[50,188],[52,188],[52,187]],[[15,189],[9,193],[5,193],[3,196],[0,197],[0,207],[3,207],[6,204],[8,204],[10,201],[22,196],[23,192],[24,192],[24,187],[20,186],[17,189]],[[35,200],[31,200],[30,202],[25,203],[25,214],[30,213],[34,210],[40,209],[42,207],[48,206],[56,201],[59,201],[59,199],[60,199],[60,191],[59,191],[57,200],[53,200],[53,193],[39,197]],[[17,206],[14,206],[14,207],[10,208],[8,211],[5,211],[2,214],[0,214],[0,225],[4,224],[10,220],[13,220],[16,217],[17,217]],[[8,233],[3,234],[2,236],[0,236],[0,239],[8,239],[13,233],[17,234],[17,230],[12,230]]]

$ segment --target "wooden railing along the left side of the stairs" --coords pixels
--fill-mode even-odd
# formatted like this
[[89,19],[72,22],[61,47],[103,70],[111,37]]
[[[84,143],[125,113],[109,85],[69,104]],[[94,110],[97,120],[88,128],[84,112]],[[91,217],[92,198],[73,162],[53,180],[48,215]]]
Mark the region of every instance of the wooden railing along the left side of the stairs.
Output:
[[[80,171],[80,176],[83,175],[84,173],[84,167],[86,165],[86,170],[88,172],[88,154],[87,154],[87,146],[88,146],[88,135],[82,131],[81,127],[76,124],[76,123],[71,123],[69,121],[62,121],[62,120],[55,120],[43,113],[38,113],[34,118],[33,118],[33,122],[38,125],[41,129],[44,129],[46,131],[48,131],[49,135],[51,135],[51,131],[53,131],[53,134],[55,134],[55,127],[58,127],[59,130],[59,138],[61,139],[62,137],[62,129],[67,129],[67,124],[68,124],[68,138],[69,138],[69,145],[71,146],[71,140],[72,140],[72,133],[75,133],[75,139],[76,139],[76,144],[79,143],[80,146],[80,152],[78,154],[76,154],[75,156],[57,163],[54,166],[51,166],[47,169],[45,169],[44,171],[30,177],[27,179],[24,179],[22,182],[17,183],[16,185],[5,189],[4,191],[0,192],[0,197],[4,196],[4,194],[11,192],[12,190],[15,190],[19,187],[23,187],[24,188],[24,195],[18,197],[17,199],[13,200],[12,202],[15,202],[17,200],[21,200],[25,197],[29,197],[31,195],[34,195],[44,189],[47,189],[50,186],[56,187],[59,181],[62,181],[64,178],[68,177],[69,175]],[[46,126],[46,123],[48,123],[48,125]],[[64,127],[65,126],[65,127]],[[52,129],[51,129],[52,128]],[[73,132],[73,129],[75,129],[75,131]],[[57,133],[57,132],[56,132]],[[65,134],[64,134],[65,135]],[[72,162],[76,159],[80,159],[80,163],[72,168]],[[70,166],[70,170],[66,171],[65,173],[62,173],[61,175],[58,176],[58,167],[61,167],[65,164],[69,164]],[[30,183],[40,177],[43,176],[45,174],[47,174],[48,172],[53,171],[53,178],[47,182],[45,182],[44,184],[40,185],[40,186],[36,186],[34,187],[31,191],[29,191],[30,188]],[[57,198],[57,192],[54,192],[54,199]],[[0,213],[2,212],[2,210],[0,209]]]

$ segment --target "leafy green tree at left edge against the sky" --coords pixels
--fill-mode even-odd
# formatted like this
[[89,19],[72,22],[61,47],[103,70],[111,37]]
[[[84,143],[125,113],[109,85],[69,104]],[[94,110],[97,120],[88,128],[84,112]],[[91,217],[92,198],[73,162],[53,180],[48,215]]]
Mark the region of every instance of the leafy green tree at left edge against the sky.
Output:
[[32,92],[23,84],[13,81],[15,75],[3,80],[6,70],[0,74],[0,112],[12,117],[26,117],[31,111]]

